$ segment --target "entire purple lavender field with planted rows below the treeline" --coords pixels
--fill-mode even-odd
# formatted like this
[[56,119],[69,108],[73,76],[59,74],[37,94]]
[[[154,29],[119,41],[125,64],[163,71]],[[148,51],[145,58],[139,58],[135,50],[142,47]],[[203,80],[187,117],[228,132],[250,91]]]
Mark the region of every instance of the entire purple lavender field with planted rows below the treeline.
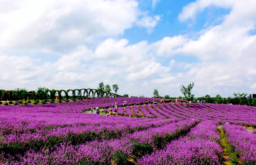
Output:
[[[86,113],[124,101],[115,116]],[[255,107],[172,101],[0,106],[0,164],[256,164]]]

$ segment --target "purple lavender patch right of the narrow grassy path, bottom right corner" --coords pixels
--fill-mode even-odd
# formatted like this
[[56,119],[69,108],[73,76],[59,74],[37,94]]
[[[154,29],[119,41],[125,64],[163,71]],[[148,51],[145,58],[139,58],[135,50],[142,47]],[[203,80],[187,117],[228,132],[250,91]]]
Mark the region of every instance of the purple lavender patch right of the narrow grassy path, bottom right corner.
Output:
[[256,134],[233,124],[224,124],[223,130],[228,142],[238,153],[241,164],[256,164]]

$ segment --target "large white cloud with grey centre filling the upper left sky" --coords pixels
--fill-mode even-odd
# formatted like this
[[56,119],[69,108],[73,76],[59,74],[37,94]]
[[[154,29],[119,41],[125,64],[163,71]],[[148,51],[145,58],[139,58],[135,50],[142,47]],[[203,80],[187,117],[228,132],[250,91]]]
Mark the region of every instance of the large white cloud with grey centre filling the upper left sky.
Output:
[[[134,0],[6,1],[0,10],[0,49],[60,51],[60,47],[117,36],[142,21],[148,32],[160,20],[138,8]],[[8,12],[6,12],[8,8]],[[33,13],[33,14],[32,14]]]

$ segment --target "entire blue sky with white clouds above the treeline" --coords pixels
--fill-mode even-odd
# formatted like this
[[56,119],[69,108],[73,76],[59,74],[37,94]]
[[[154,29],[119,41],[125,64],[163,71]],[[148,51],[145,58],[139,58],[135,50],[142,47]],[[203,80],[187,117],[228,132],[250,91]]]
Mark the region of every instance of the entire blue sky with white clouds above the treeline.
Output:
[[0,0],[0,89],[256,93],[255,0]]

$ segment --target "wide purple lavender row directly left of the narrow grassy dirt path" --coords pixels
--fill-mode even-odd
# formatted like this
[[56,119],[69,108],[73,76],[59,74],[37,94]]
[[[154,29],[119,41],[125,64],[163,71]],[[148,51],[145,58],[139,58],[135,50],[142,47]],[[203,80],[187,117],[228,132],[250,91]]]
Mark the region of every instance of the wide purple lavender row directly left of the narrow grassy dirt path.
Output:
[[168,144],[164,149],[143,156],[138,164],[221,164],[223,151],[217,123],[204,121],[192,128],[187,136]]

